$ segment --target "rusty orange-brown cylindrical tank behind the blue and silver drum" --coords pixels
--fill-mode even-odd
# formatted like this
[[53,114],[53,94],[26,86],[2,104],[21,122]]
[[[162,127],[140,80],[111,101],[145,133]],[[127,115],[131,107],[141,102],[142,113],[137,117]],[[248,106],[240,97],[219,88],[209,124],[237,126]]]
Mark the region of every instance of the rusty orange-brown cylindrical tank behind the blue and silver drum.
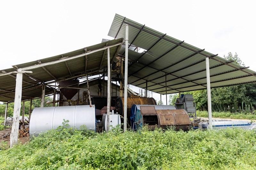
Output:
[[[130,118],[130,112],[132,105],[156,105],[156,100],[154,98],[147,97],[127,97],[127,118]],[[124,116],[124,97],[118,97],[116,99],[116,112]]]

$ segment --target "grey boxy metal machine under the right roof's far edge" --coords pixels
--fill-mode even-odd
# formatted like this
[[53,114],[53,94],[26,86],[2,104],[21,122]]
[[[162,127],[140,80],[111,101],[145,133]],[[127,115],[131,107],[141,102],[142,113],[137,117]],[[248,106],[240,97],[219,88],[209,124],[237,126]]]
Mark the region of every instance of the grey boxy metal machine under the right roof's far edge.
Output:
[[192,94],[181,94],[180,98],[176,99],[175,107],[185,109],[189,117],[196,118],[196,104]]

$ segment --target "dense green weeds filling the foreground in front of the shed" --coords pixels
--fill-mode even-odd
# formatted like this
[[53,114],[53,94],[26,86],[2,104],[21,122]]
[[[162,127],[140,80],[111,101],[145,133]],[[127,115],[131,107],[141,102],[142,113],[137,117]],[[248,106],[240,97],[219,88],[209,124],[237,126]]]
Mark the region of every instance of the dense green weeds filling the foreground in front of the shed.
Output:
[[0,151],[0,169],[255,169],[255,131],[60,127]]

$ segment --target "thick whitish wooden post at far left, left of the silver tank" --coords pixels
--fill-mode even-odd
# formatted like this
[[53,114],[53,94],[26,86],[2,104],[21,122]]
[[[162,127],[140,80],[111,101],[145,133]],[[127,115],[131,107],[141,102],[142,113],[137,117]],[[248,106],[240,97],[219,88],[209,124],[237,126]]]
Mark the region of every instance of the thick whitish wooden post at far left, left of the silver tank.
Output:
[[15,98],[14,98],[14,109],[12,118],[12,132],[10,135],[10,148],[18,143],[19,134],[19,123],[20,123],[20,107],[21,107],[21,95],[22,95],[22,73],[21,69],[18,69],[16,76],[16,87],[15,87]]

